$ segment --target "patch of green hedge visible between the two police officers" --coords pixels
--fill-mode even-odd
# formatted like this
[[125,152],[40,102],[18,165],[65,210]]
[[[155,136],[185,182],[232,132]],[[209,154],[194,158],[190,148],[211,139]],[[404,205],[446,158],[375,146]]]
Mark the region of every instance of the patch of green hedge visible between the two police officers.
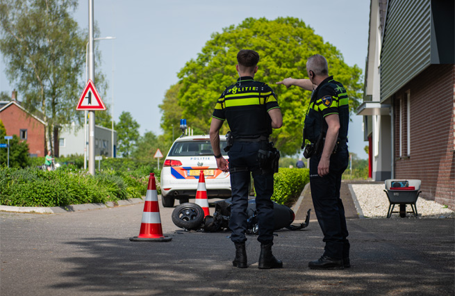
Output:
[[288,204],[299,197],[306,183],[310,181],[308,169],[280,167],[274,174],[274,193],[272,200],[278,204]]

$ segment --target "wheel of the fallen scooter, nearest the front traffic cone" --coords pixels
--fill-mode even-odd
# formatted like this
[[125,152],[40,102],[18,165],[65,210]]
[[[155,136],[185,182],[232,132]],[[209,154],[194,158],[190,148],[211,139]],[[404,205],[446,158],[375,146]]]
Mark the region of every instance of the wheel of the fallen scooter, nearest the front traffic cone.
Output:
[[198,204],[191,202],[181,204],[172,211],[172,222],[176,227],[196,230],[204,220],[204,210]]

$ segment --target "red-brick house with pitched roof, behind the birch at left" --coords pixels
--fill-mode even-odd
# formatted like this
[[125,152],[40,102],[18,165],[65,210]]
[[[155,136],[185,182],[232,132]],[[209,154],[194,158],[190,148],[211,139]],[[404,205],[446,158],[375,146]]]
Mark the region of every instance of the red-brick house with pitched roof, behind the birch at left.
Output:
[[[5,126],[7,135],[17,135],[20,140],[28,143],[30,156],[45,156],[46,153],[46,123],[40,118],[28,113],[15,99],[0,101],[0,120]],[[55,154],[54,155],[58,155]]]

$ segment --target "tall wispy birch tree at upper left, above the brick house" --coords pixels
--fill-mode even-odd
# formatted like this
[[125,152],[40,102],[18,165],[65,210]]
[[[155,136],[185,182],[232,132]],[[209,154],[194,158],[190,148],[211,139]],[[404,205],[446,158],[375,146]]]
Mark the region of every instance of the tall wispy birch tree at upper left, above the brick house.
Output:
[[[76,0],[0,0],[6,76],[23,94],[24,108],[47,122],[47,149],[53,148],[54,126],[83,117],[74,96],[85,85],[87,33],[70,15],[76,6]],[[96,80],[101,88],[104,76]]]

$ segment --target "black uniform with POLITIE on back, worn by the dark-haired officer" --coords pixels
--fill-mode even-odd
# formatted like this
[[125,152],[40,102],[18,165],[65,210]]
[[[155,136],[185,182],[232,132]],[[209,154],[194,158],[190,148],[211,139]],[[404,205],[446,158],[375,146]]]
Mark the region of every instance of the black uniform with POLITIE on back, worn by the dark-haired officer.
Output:
[[229,228],[231,240],[245,242],[247,229],[247,206],[250,172],[253,173],[258,211],[258,241],[268,244],[273,241],[273,172],[260,170],[258,150],[268,147],[272,133],[272,120],[268,111],[279,108],[276,96],[268,85],[242,76],[229,86],[217,101],[213,117],[227,120],[233,135],[229,149],[232,205]]

